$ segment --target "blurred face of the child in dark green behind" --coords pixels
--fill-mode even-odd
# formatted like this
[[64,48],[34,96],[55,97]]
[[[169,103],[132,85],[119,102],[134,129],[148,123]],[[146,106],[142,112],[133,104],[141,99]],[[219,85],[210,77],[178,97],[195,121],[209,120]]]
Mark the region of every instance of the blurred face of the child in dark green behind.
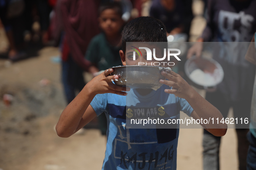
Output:
[[115,35],[120,32],[123,25],[122,18],[114,9],[105,9],[99,17],[100,28],[106,35]]

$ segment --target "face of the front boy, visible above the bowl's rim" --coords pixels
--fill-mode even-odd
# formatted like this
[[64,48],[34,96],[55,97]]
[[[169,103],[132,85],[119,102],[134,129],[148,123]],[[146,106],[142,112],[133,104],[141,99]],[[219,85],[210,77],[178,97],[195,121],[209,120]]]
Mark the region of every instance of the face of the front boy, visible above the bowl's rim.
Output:
[[[160,48],[158,47],[155,47],[155,46],[151,46],[149,45],[148,48],[152,51],[153,53],[153,48],[156,49],[156,57],[159,58],[159,55],[160,55],[160,58],[161,58],[161,50]],[[122,60],[122,63],[124,66],[134,66],[134,65],[139,65],[139,66],[151,66],[151,63],[154,63],[154,62],[159,62],[159,61],[156,61],[154,60],[154,57],[153,57],[153,54],[152,54],[152,60],[147,60],[147,53],[146,53],[146,50],[140,50],[141,51],[141,54],[137,54],[135,53],[135,60],[133,59],[133,52],[134,50],[132,48],[130,49],[126,49],[126,54],[123,53],[123,50],[120,50],[119,51],[119,54],[120,54],[120,57],[121,57],[121,60]],[[153,64],[152,64],[153,66]]]

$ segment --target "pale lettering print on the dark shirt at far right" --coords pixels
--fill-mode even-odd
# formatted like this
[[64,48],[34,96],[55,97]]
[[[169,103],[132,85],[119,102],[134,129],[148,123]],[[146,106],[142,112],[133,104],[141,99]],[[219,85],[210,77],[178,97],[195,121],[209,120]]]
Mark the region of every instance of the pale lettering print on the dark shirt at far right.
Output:
[[243,43],[248,41],[252,35],[250,32],[253,28],[254,18],[243,11],[233,13],[220,10],[218,16],[218,29],[220,33],[220,58],[231,64],[248,66],[244,57],[248,44]]

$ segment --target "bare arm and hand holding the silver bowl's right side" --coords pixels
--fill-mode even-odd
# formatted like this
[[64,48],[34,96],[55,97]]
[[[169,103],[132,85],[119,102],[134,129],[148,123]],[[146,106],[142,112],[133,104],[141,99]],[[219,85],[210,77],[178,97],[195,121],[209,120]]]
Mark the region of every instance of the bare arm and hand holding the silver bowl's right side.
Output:
[[170,71],[162,72],[162,75],[165,76],[168,80],[160,80],[161,83],[169,85],[172,89],[165,89],[166,93],[175,94],[179,98],[184,98],[194,111],[191,113],[191,116],[194,119],[207,119],[213,118],[213,121],[210,121],[209,124],[201,124],[207,131],[211,132],[215,136],[223,136],[227,132],[227,124],[218,123],[218,120],[223,118],[222,114],[216,107],[210,104],[205,100],[197,91],[194,90],[180,75]]

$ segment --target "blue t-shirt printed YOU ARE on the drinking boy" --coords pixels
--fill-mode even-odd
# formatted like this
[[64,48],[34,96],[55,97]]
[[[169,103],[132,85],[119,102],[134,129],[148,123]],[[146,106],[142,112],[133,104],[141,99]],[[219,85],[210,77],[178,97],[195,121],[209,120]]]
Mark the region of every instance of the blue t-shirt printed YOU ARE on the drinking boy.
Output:
[[[162,85],[157,91],[142,96],[134,89],[127,96],[97,94],[91,106],[107,116],[107,148],[104,170],[176,170],[179,129],[132,129],[126,118],[161,115],[179,118],[180,111],[190,116],[192,107],[185,99],[166,94]],[[160,108],[160,109],[159,109]],[[159,111],[160,110],[160,111]]]

